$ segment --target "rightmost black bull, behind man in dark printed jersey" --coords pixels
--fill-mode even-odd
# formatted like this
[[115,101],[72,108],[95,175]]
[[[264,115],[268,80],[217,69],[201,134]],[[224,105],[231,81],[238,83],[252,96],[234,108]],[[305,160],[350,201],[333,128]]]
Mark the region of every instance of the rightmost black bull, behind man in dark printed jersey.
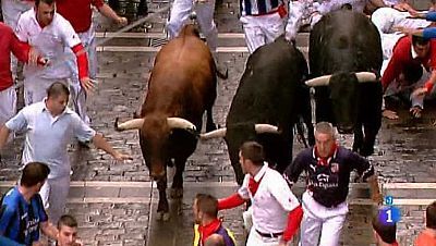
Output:
[[318,85],[316,121],[331,122],[340,133],[353,132],[353,150],[372,155],[382,125],[383,97],[383,53],[376,27],[363,14],[331,12],[312,29],[308,57],[311,77],[317,78],[306,84]]

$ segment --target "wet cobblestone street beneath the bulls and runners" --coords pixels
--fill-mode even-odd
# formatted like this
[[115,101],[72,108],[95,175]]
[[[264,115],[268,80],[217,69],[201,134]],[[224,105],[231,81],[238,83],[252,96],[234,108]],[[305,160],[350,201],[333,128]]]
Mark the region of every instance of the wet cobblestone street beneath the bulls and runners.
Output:
[[[158,11],[167,4],[154,1],[149,9]],[[249,57],[238,13],[238,1],[223,0],[217,7],[219,63],[229,69],[229,78],[220,79],[217,87],[214,120],[219,125],[225,125]],[[73,182],[68,212],[78,219],[80,236],[85,245],[192,245],[192,201],[196,193],[225,197],[238,188],[225,142],[213,139],[198,143],[195,153],[186,163],[183,199],[171,200],[170,221],[158,222],[156,184],[150,182],[145,167],[138,134],[136,131],[114,131],[116,118],[121,121],[131,119],[143,102],[154,57],[166,38],[164,27],[167,14],[153,17],[147,33],[123,34],[104,44],[114,27],[105,32],[108,24],[97,17],[101,45],[98,48],[98,89],[87,102],[92,126],[117,149],[132,155],[133,160],[121,163],[101,150],[71,146]],[[308,34],[300,34],[296,44],[306,54]],[[375,155],[370,159],[379,173],[384,195],[392,196],[395,205],[401,209],[399,243],[410,246],[424,226],[426,206],[436,197],[436,131],[433,125],[436,110],[435,107],[428,107],[420,121],[412,121],[405,111],[400,112],[401,120],[384,120]],[[341,145],[351,146],[351,142],[350,136],[340,138]],[[19,136],[2,151],[1,192],[13,186],[19,179],[22,143],[23,137]],[[295,140],[294,153],[302,147]],[[304,179],[293,192],[300,196],[303,190]],[[371,216],[376,208],[368,198],[365,184],[351,184],[350,213],[341,245],[367,246],[373,243]],[[243,208],[220,212],[226,225],[235,232],[239,245],[243,245],[244,238],[242,211]]]

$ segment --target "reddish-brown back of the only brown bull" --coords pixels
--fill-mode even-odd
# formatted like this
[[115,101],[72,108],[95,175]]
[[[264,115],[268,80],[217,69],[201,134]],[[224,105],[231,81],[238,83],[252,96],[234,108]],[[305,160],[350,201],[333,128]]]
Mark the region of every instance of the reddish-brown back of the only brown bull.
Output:
[[207,101],[215,100],[215,90],[210,51],[193,26],[186,25],[156,57],[142,116],[158,111],[198,122]]

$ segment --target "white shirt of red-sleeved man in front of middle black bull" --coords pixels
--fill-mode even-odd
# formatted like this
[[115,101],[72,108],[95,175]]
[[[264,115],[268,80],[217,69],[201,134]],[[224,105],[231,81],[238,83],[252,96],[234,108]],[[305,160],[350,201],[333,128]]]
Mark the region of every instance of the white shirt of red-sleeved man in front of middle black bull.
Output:
[[254,197],[249,189],[250,174],[245,174],[244,182],[238,194],[253,202],[253,226],[262,233],[281,233],[288,223],[290,211],[299,207],[300,202],[291,192],[283,176],[268,168],[265,163],[254,176],[261,181]]

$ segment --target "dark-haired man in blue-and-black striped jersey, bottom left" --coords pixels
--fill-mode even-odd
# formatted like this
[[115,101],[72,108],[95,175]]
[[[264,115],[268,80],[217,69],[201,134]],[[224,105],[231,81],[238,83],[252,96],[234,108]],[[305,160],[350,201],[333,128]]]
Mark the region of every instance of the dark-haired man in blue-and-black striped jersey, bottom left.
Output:
[[[10,189],[1,202],[1,239],[9,238],[26,246],[38,245],[39,230],[47,236],[57,238],[58,230],[48,222],[38,194],[49,173],[50,169],[40,162],[31,162],[23,169],[20,185]],[[16,244],[10,242],[7,245]]]

